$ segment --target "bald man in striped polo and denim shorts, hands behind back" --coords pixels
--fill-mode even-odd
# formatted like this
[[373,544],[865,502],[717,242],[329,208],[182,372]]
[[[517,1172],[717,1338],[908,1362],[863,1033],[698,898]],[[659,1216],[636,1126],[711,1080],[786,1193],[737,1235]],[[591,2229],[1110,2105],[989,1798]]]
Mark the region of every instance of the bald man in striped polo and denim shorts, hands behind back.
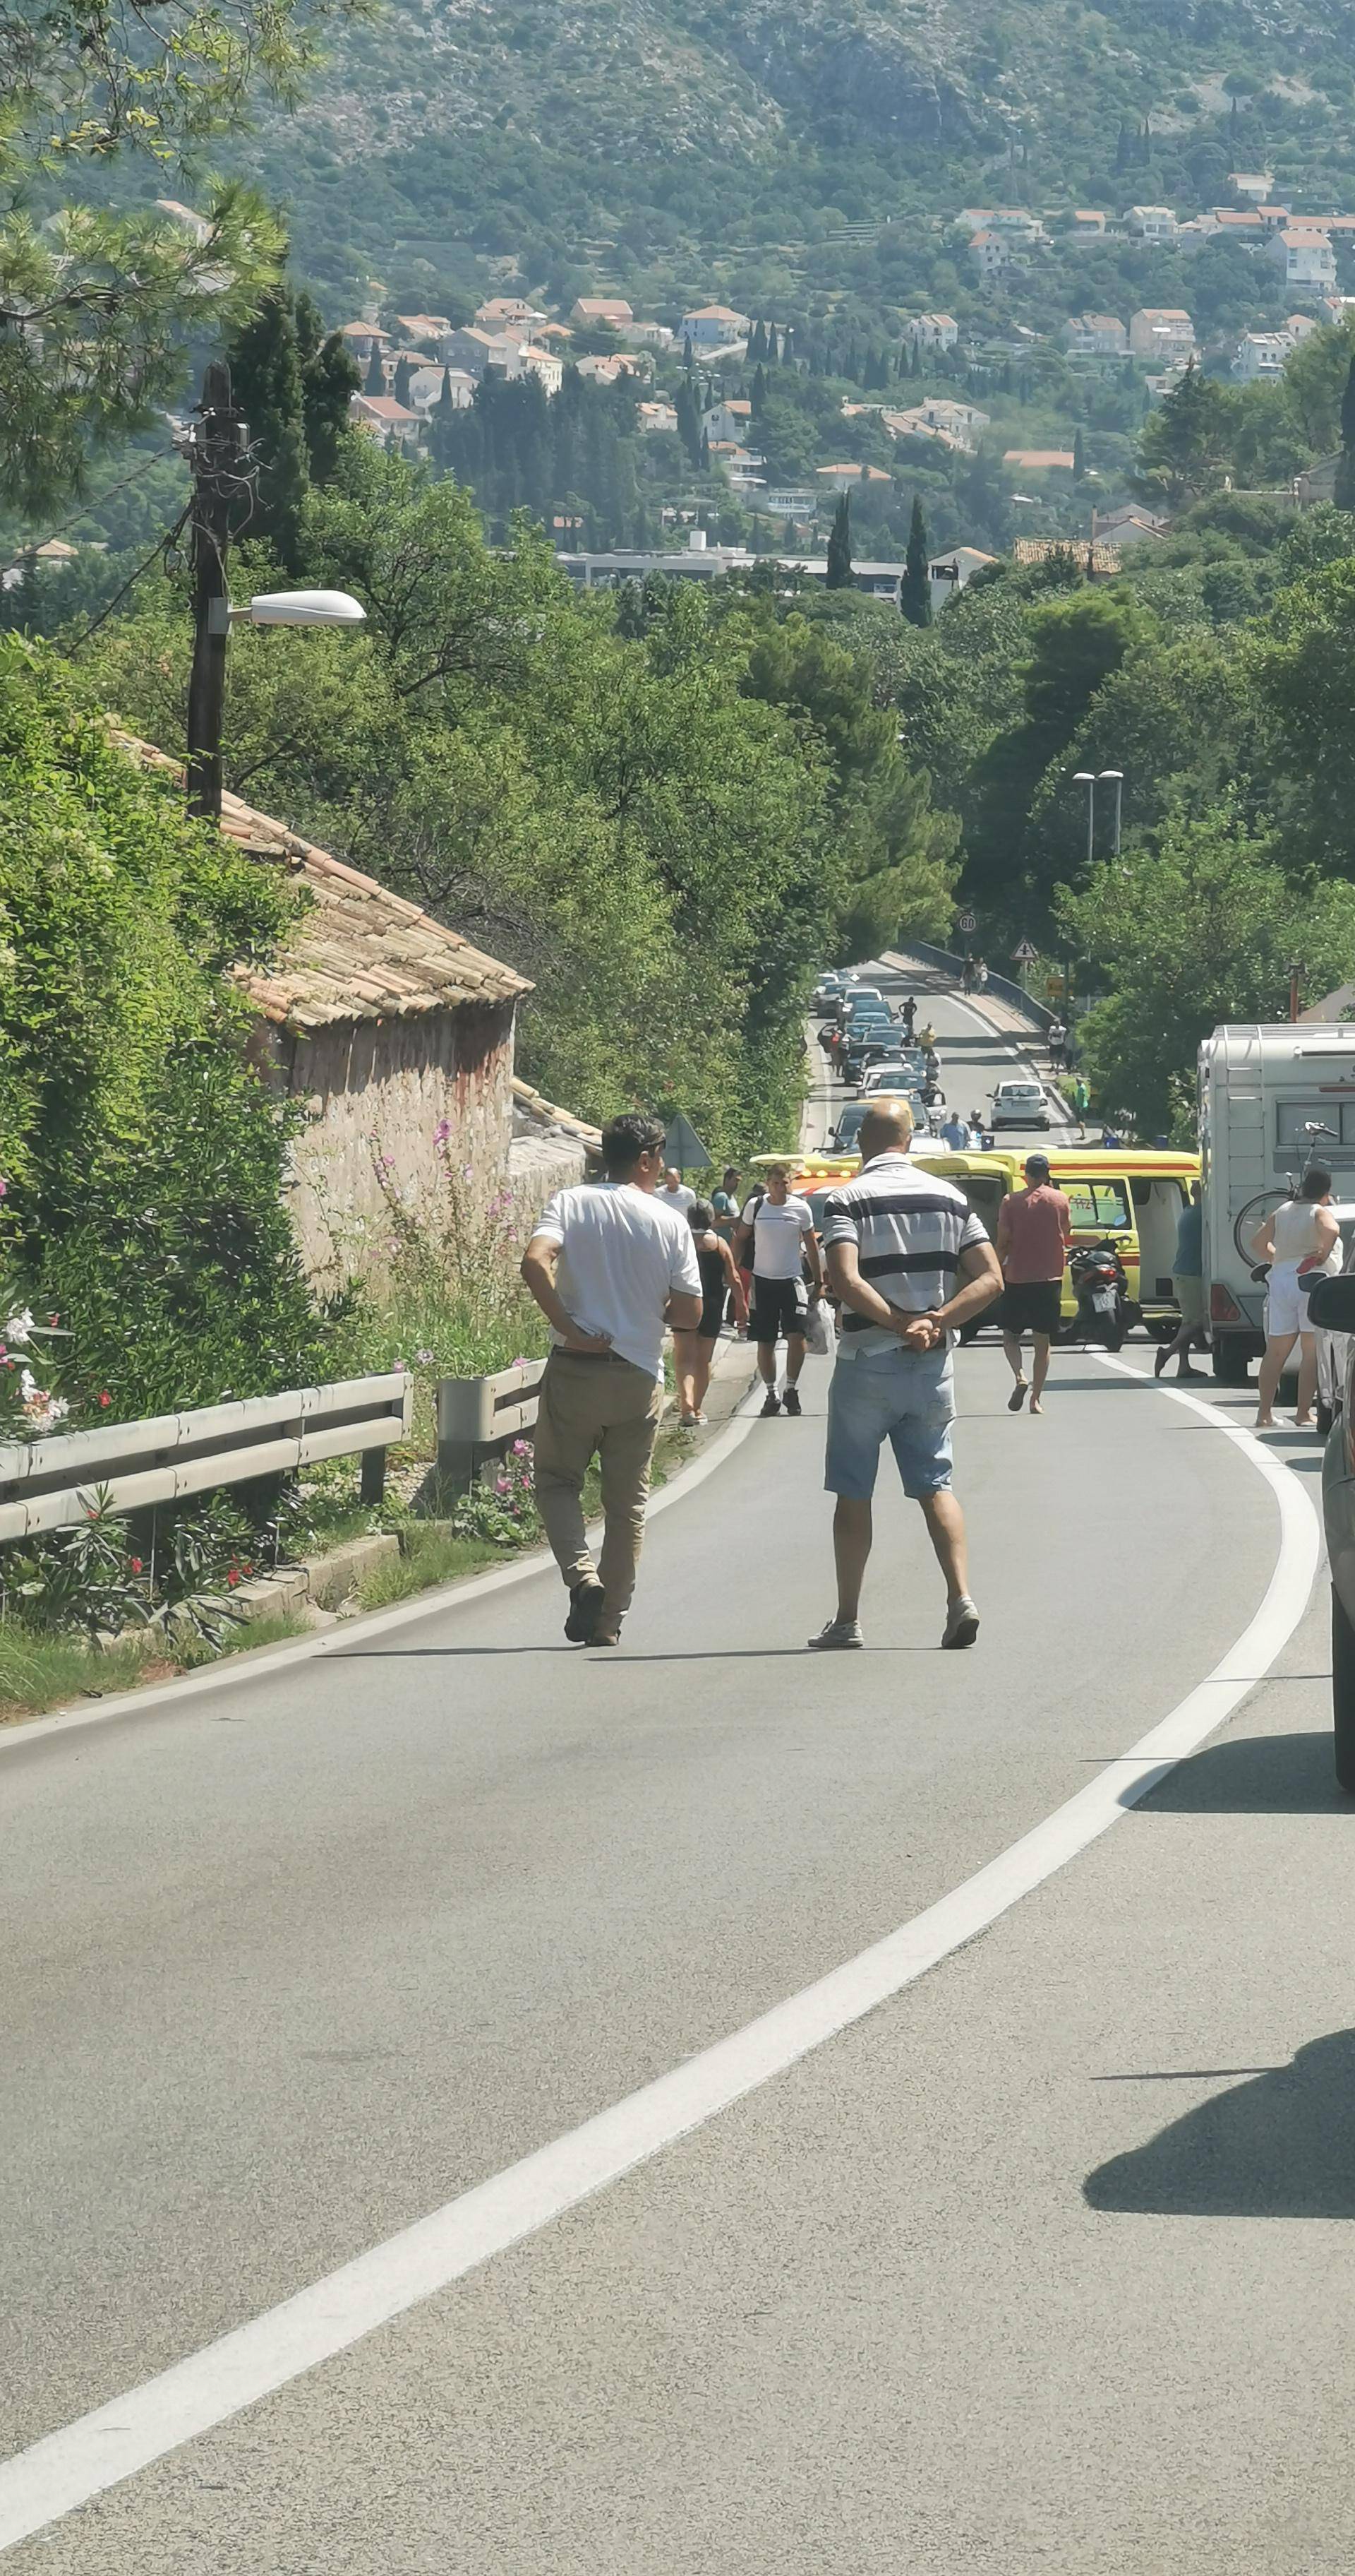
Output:
[[871,1110],[860,1126],[860,1175],[824,1203],[827,1275],[842,1303],[824,1461],[824,1486],[837,1494],[837,1613],[811,1646],[866,1643],[858,1610],[884,1440],[904,1494],[922,1504],[945,1574],[940,1643],[971,1646],[979,1636],[963,1512],[951,1492],[951,1329],[1000,1296],[1002,1270],[963,1193],[920,1170],[909,1139],[912,1115],[902,1103]]

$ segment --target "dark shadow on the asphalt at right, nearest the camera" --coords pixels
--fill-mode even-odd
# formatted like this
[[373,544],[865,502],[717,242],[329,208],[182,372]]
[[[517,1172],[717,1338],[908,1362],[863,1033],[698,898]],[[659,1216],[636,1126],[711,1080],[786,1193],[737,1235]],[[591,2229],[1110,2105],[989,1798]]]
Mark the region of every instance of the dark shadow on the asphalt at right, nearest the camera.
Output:
[[1355,2218],[1355,2030],[1097,2164],[1095,2210],[1159,2218]]

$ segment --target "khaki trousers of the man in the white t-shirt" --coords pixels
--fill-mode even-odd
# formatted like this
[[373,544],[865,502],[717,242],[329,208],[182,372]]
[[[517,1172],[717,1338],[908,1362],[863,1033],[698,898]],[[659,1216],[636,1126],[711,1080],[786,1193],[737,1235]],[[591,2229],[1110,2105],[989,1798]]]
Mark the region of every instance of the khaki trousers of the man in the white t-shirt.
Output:
[[[536,1404],[536,1504],[567,1584],[603,1582],[605,1615],[621,1618],[636,1589],[649,1461],[665,1404],[662,1378],[631,1360],[551,1350]],[[603,1463],[603,1553],[592,1564],[582,1481]]]

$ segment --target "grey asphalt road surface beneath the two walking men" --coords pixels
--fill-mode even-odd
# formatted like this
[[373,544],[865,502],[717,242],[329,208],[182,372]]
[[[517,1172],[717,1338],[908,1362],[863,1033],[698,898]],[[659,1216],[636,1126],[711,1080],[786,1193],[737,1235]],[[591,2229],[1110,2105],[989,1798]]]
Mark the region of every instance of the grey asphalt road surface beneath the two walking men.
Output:
[[[1213,1669],[1275,1564],[1249,1458],[1079,1352],[1041,1422],[994,1350],[958,1368],[966,1656],[889,1484],[868,1651],[804,1651],[832,1597],[809,1363],[806,1417],[654,1520],[618,1654],[569,1651],[538,1574],[0,1757],[0,2450],[796,1996]],[[1345,2568],[1322,1672],[1314,1613],[984,1937],[5,2563]]]

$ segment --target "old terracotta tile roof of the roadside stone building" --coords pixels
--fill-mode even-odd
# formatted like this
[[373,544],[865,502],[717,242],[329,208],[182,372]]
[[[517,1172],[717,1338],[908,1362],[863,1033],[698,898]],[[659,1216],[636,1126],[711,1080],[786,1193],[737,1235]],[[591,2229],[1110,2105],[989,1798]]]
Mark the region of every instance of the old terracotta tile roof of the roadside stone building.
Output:
[[[113,732],[113,739],[142,768],[180,775],[178,760],[149,742],[124,732]],[[515,1002],[531,992],[513,966],[471,948],[420,904],[348,868],[240,796],[222,796],[222,832],[252,858],[283,860],[309,894],[283,956],[263,969],[234,969],[240,989],[278,1028],[402,1020],[459,1002]]]

